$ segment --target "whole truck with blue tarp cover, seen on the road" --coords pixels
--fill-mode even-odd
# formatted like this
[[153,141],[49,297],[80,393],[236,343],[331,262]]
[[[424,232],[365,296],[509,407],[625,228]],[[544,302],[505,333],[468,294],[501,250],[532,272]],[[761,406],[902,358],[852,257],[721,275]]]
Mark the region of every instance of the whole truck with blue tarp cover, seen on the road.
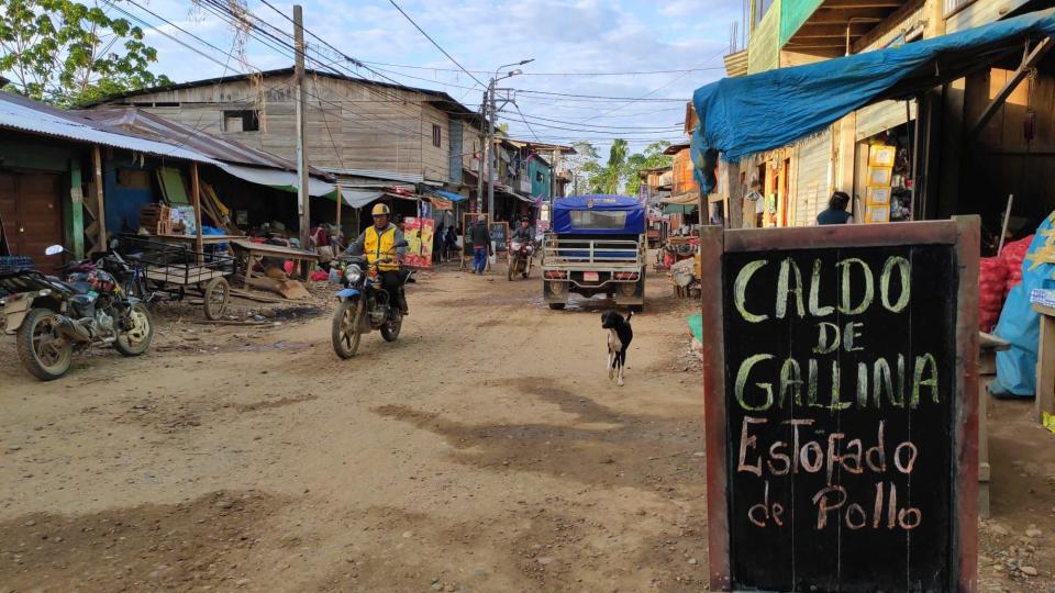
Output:
[[543,296],[564,309],[568,295],[606,294],[641,311],[645,304],[645,205],[625,195],[574,195],[553,202],[542,244]]

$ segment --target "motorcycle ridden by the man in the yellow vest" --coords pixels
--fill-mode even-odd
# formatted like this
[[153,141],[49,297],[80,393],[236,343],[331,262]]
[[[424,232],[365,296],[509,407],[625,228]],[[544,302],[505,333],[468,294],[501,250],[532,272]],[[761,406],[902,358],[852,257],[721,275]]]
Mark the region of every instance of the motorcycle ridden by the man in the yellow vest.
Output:
[[[397,247],[406,246],[406,240],[397,243]],[[403,290],[411,281],[411,275],[402,272],[401,280],[400,290]],[[342,256],[330,267],[330,281],[343,287],[336,293],[340,302],[333,312],[331,332],[333,351],[337,356],[355,356],[363,334],[374,329],[380,331],[385,342],[396,342],[403,326],[403,315],[398,295],[389,294],[381,287],[376,261],[369,264],[364,256]]]

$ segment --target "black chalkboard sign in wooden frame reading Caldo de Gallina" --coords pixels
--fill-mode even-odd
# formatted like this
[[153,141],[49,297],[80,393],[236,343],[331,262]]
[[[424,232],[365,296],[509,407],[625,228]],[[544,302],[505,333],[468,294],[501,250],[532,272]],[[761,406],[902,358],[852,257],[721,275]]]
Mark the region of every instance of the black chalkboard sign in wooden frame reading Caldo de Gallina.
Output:
[[979,219],[701,238],[710,590],[976,591]]

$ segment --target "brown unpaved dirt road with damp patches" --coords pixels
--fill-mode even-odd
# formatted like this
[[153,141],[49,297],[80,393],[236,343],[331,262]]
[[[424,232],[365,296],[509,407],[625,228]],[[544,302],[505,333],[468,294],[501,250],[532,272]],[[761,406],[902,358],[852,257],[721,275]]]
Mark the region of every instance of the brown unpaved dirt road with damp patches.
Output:
[[[537,281],[454,271],[412,287],[399,342],[348,361],[327,315],[167,321],[148,356],[54,383],[4,339],[0,591],[702,591],[691,305],[651,291],[622,389],[603,303],[553,312]],[[993,591],[1053,582],[1055,457],[1012,463],[1022,434],[1051,443],[1023,411],[992,422]]]

